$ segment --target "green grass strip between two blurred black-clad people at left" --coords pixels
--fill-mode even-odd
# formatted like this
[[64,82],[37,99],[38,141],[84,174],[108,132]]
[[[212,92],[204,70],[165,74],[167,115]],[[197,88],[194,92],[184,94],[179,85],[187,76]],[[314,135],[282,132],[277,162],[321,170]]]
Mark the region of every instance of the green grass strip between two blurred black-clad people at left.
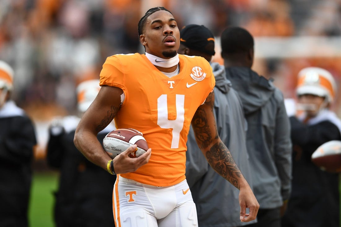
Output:
[[30,227],[54,227],[53,192],[58,185],[58,173],[53,171],[33,172],[29,205]]

